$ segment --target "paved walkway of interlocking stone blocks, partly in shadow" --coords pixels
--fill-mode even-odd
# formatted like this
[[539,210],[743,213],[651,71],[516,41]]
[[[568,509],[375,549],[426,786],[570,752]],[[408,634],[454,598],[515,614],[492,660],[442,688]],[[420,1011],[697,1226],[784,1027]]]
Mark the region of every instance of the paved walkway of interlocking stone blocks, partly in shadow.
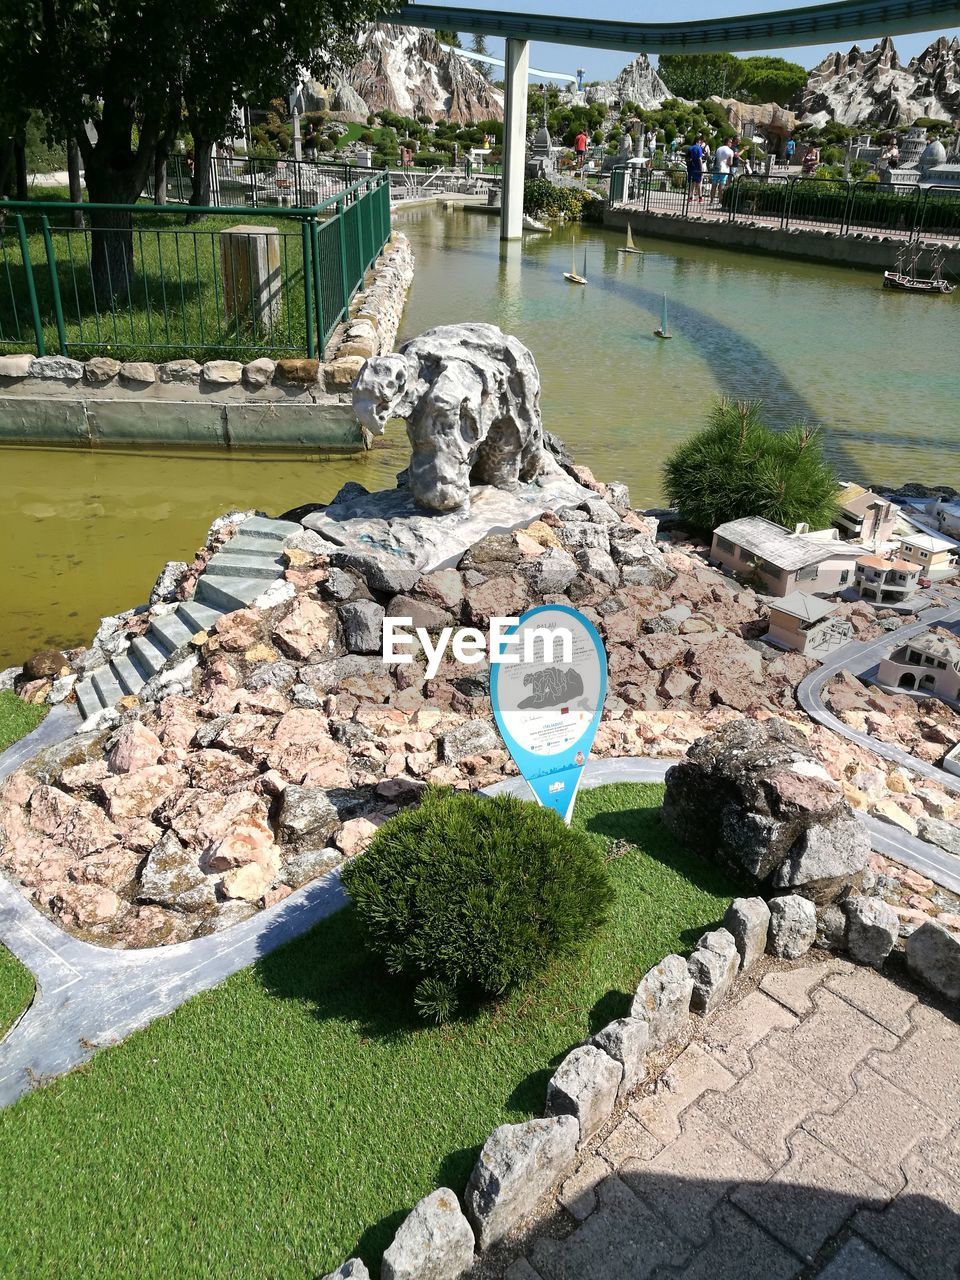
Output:
[[767,963],[602,1132],[507,1280],[960,1275],[960,1025]]

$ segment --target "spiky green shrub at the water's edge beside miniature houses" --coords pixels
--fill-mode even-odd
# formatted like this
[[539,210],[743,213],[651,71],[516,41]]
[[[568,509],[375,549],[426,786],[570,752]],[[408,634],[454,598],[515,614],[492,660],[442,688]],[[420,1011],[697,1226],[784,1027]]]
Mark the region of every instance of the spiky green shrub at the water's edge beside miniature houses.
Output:
[[663,476],[671,503],[703,532],[744,516],[820,529],[836,511],[837,479],[823,460],[818,430],[772,431],[759,403],[718,401],[707,428],[667,458]]

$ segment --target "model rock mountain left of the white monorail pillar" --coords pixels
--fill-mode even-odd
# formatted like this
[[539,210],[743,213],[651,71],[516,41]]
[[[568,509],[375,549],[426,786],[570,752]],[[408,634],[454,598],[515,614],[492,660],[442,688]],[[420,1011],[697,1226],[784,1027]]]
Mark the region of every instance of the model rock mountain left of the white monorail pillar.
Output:
[[433,32],[378,24],[357,44],[356,61],[334,76],[328,92],[308,86],[337,114],[366,120],[396,111],[456,124],[503,119],[503,95]]

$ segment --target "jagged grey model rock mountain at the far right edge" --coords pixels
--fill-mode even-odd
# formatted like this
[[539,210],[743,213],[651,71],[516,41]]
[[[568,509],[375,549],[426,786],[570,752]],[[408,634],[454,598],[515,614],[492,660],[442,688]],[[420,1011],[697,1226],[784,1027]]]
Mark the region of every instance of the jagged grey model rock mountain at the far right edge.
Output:
[[960,114],[960,40],[940,36],[906,67],[890,37],[870,50],[828,54],[810,72],[797,114],[814,124],[952,120]]

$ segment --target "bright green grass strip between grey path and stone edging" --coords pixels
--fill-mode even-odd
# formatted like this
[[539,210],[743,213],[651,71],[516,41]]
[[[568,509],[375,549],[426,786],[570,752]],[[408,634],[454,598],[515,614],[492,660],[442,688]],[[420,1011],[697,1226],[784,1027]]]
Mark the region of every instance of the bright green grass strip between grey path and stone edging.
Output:
[[[616,904],[588,954],[425,1027],[351,908],[0,1114],[0,1275],[297,1277],[371,1268],[410,1207],[461,1192],[498,1124],[689,951],[740,886],[660,828],[662,788],[584,792]],[[374,1270],[376,1274],[376,1270]]]

